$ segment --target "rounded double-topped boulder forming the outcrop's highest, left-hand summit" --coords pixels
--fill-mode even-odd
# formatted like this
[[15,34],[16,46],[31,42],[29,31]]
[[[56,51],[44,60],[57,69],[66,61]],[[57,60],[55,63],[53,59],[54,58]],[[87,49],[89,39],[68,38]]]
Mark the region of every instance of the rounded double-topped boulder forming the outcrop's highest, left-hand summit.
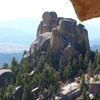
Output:
[[45,32],[51,32],[58,25],[56,12],[44,12],[42,19],[37,30],[37,36]]

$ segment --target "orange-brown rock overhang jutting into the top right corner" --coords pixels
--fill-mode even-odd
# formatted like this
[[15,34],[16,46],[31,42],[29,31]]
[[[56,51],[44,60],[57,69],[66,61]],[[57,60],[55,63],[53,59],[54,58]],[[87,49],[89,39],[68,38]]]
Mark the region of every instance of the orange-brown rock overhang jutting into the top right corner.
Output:
[[100,0],[70,0],[81,21],[100,17]]

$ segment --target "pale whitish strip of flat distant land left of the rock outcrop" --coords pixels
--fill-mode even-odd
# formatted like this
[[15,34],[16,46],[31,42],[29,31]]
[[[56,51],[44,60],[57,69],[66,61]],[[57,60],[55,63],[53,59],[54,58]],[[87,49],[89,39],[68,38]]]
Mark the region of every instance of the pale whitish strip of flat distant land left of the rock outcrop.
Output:
[[0,53],[18,53],[28,49],[29,45],[16,43],[0,43]]

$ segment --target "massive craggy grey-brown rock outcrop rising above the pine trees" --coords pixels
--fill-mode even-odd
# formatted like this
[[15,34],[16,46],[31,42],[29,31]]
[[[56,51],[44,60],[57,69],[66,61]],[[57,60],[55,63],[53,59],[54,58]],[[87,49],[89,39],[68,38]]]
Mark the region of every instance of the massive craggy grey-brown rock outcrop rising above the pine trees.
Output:
[[90,49],[88,32],[84,25],[77,25],[74,19],[58,17],[56,12],[44,12],[42,18],[37,30],[37,39],[24,58],[33,54],[35,47],[47,51],[49,45],[52,51],[63,53],[66,59]]

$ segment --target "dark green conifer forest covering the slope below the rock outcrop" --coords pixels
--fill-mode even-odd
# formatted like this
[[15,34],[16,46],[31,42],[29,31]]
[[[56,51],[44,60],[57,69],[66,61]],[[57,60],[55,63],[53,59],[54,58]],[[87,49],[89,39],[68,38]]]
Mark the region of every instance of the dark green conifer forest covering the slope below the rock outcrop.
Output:
[[[35,64],[33,61],[35,61]],[[4,68],[8,68],[8,65],[4,64]],[[64,55],[54,53],[50,49],[50,46],[44,53],[41,48],[36,47],[35,53],[31,56],[31,60],[24,59],[22,63],[18,64],[16,59],[13,58],[11,69],[15,76],[6,89],[0,89],[0,100],[14,99],[14,86],[23,87],[22,100],[31,100],[31,98],[36,100],[39,95],[45,93],[45,89],[49,91],[48,98],[51,100],[59,90],[59,82],[71,82],[75,77],[82,76],[87,72],[89,74],[99,73],[100,54],[95,53],[94,58],[91,56],[90,51],[87,51],[85,56],[79,54],[76,57],[69,57],[68,61],[65,61]],[[34,74],[29,75],[33,70]],[[36,87],[39,87],[38,94],[31,92]],[[82,77],[80,88],[83,99],[89,100],[86,94],[88,87],[85,83],[84,76]]]

